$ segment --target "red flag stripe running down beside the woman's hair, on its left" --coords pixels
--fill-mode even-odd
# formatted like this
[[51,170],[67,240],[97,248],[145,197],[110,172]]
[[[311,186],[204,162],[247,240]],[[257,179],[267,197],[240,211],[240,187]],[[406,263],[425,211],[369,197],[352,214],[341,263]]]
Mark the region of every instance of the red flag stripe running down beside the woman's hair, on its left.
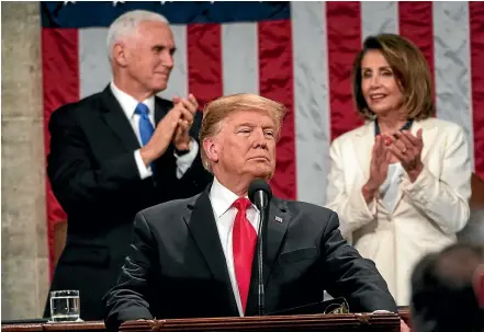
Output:
[[326,2],[331,139],[363,124],[351,95],[351,67],[361,49],[359,2]]

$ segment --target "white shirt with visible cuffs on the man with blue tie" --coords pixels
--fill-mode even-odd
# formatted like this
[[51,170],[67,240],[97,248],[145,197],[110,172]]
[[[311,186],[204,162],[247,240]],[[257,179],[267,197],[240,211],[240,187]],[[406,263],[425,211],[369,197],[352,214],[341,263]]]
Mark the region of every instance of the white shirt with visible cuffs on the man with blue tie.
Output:
[[[126,115],[127,119],[130,121],[131,126],[133,127],[133,130],[136,134],[136,137],[138,138],[139,146],[143,146],[142,137],[139,135],[139,114],[135,113],[136,106],[138,105],[138,101],[135,100],[130,94],[121,91],[114,82],[111,82],[111,91],[114,94],[114,98],[117,100],[117,102],[121,105],[121,108],[123,108],[124,114]],[[147,100],[143,101],[143,103],[148,107],[149,113],[148,117],[151,122],[151,125],[154,128],[156,128],[155,125],[155,96],[151,95]],[[153,175],[151,167],[145,165],[143,162],[140,152],[140,149],[137,149],[134,152],[134,158],[136,161],[136,165],[138,168],[139,178],[146,179]],[[177,156],[177,153],[173,153],[177,158],[177,179],[181,179],[183,174],[187,172],[187,170],[192,165],[193,160],[196,158],[196,153],[199,153],[199,144],[196,140],[191,138],[190,140],[190,152],[187,154],[183,154],[181,157]]]

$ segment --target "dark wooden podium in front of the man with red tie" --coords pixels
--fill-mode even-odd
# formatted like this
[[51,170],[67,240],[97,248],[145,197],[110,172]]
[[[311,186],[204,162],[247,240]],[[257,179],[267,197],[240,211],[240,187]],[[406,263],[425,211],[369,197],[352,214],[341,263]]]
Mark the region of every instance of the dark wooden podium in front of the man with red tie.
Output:
[[397,313],[345,313],[128,321],[120,332],[148,331],[379,331],[398,332]]

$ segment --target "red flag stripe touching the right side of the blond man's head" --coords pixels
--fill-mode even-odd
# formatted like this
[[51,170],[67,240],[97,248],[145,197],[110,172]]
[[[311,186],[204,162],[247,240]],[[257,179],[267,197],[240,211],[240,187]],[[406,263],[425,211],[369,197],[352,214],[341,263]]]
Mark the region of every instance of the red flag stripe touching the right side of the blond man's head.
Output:
[[289,20],[260,22],[258,38],[260,94],[288,107],[278,142],[278,164],[271,187],[274,195],[295,199],[297,193],[291,22]]

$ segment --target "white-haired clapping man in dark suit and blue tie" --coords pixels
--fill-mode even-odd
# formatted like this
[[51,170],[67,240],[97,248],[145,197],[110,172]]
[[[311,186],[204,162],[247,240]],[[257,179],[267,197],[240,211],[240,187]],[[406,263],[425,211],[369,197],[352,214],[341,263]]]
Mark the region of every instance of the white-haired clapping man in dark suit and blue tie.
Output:
[[[195,139],[193,95],[167,88],[175,41],[166,19],[128,12],[108,33],[113,80],[104,91],[53,113],[47,172],[67,213],[66,248],[50,290],[80,290],[80,318],[103,318],[103,295],[128,252],[133,219],[148,206],[203,191],[212,175]],[[49,313],[49,301],[45,317]]]

